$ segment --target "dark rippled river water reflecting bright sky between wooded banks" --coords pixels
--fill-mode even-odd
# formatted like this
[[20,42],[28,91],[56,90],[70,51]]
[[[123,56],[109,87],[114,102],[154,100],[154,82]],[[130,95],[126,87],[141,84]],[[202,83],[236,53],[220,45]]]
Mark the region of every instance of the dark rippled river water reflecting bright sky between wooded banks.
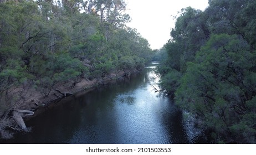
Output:
[[153,68],[69,97],[27,122],[32,132],[4,143],[204,143],[201,131],[155,90]]

